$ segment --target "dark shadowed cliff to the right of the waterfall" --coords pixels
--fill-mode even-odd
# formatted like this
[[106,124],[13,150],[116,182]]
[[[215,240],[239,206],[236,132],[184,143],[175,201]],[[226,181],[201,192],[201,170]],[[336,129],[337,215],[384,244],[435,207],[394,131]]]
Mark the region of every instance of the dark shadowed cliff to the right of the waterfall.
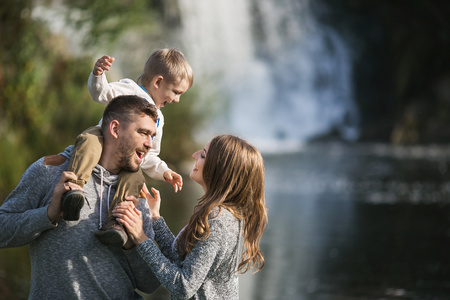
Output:
[[337,28],[354,51],[362,140],[450,141],[449,2],[311,4],[321,22]]

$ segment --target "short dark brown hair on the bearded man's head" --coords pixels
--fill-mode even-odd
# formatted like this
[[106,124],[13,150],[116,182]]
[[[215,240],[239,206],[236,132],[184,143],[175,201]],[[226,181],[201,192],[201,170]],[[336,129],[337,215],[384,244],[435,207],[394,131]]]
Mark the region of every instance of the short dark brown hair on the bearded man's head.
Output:
[[156,106],[144,98],[127,95],[112,99],[103,112],[102,132],[107,130],[109,123],[117,120],[127,127],[137,116],[149,116],[155,123],[158,120]]

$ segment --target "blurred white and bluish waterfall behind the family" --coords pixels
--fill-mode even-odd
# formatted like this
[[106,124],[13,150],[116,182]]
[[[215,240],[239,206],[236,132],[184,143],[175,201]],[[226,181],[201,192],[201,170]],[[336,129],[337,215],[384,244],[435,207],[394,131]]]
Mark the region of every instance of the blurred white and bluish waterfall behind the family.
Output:
[[308,0],[178,1],[199,101],[220,111],[212,128],[267,151],[358,138],[349,47]]

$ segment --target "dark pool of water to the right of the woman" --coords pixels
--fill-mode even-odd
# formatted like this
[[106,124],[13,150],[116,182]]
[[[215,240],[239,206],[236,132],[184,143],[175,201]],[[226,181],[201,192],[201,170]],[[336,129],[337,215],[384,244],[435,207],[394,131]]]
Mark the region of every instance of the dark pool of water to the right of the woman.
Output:
[[243,299],[450,299],[449,154],[325,143],[266,157],[267,265]]

